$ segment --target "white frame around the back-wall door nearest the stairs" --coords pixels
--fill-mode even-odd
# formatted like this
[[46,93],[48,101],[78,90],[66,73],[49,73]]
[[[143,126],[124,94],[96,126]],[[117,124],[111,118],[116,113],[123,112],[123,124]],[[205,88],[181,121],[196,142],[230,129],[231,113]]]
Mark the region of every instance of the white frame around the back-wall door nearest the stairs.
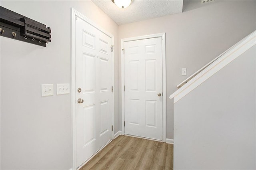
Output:
[[138,36],[132,38],[121,39],[121,95],[122,95],[122,134],[124,134],[124,42],[143,40],[148,38],[162,38],[162,85],[163,85],[163,123],[162,123],[162,142],[166,142],[166,46],[165,46],[165,32],[159,34],[151,34],[146,36]]

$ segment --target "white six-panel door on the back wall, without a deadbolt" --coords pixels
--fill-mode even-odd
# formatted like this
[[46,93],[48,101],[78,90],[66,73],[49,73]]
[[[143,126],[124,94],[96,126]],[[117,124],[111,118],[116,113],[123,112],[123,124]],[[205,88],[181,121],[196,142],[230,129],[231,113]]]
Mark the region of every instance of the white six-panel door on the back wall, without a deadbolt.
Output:
[[162,140],[162,38],[124,42],[124,49],[124,133]]

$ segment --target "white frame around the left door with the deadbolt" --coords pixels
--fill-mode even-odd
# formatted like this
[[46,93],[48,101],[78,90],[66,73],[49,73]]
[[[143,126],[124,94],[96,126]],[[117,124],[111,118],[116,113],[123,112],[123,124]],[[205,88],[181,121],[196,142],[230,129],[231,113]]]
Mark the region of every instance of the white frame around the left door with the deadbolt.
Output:
[[[71,88],[72,88],[72,170],[76,170],[76,17],[84,20],[88,24],[94,26],[96,29],[100,30],[112,40],[112,45],[114,45],[114,36],[100,26],[92,22],[92,20],[85,17],[83,14],[71,8]],[[114,48],[113,48],[114,49]],[[114,50],[112,52],[112,86],[114,88]],[[115,129],[114,121],[114,91],[112,93],[112,125]],[[112,131],[112,140],[114,139],[114,130]],[[105,145],[106,146],[106,145]],[[102,149],[102,148],[101,148]],[[92,158],[92,157],[91,157]],[[88,159],[90,160],[90,158]],[[86,163],[86,162],[85,162]],[[82,166],[81,166],[82,167]]]

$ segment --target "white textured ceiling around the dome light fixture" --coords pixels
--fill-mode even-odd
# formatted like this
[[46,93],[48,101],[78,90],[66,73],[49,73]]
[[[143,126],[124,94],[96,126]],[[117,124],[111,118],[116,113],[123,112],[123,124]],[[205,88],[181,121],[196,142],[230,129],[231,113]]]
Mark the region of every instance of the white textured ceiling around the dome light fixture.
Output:
[[92,0],[116,24],[157,18],[182,12],[183,0],[133,0],[127,8],[118,8],[111,0]]

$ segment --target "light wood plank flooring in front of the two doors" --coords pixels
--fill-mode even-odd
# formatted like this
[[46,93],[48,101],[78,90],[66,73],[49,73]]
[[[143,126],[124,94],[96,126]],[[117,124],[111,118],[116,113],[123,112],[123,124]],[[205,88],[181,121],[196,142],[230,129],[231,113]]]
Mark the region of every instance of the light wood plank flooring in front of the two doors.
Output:
[[118,136],[81,170],[172,170],[173,145]]

